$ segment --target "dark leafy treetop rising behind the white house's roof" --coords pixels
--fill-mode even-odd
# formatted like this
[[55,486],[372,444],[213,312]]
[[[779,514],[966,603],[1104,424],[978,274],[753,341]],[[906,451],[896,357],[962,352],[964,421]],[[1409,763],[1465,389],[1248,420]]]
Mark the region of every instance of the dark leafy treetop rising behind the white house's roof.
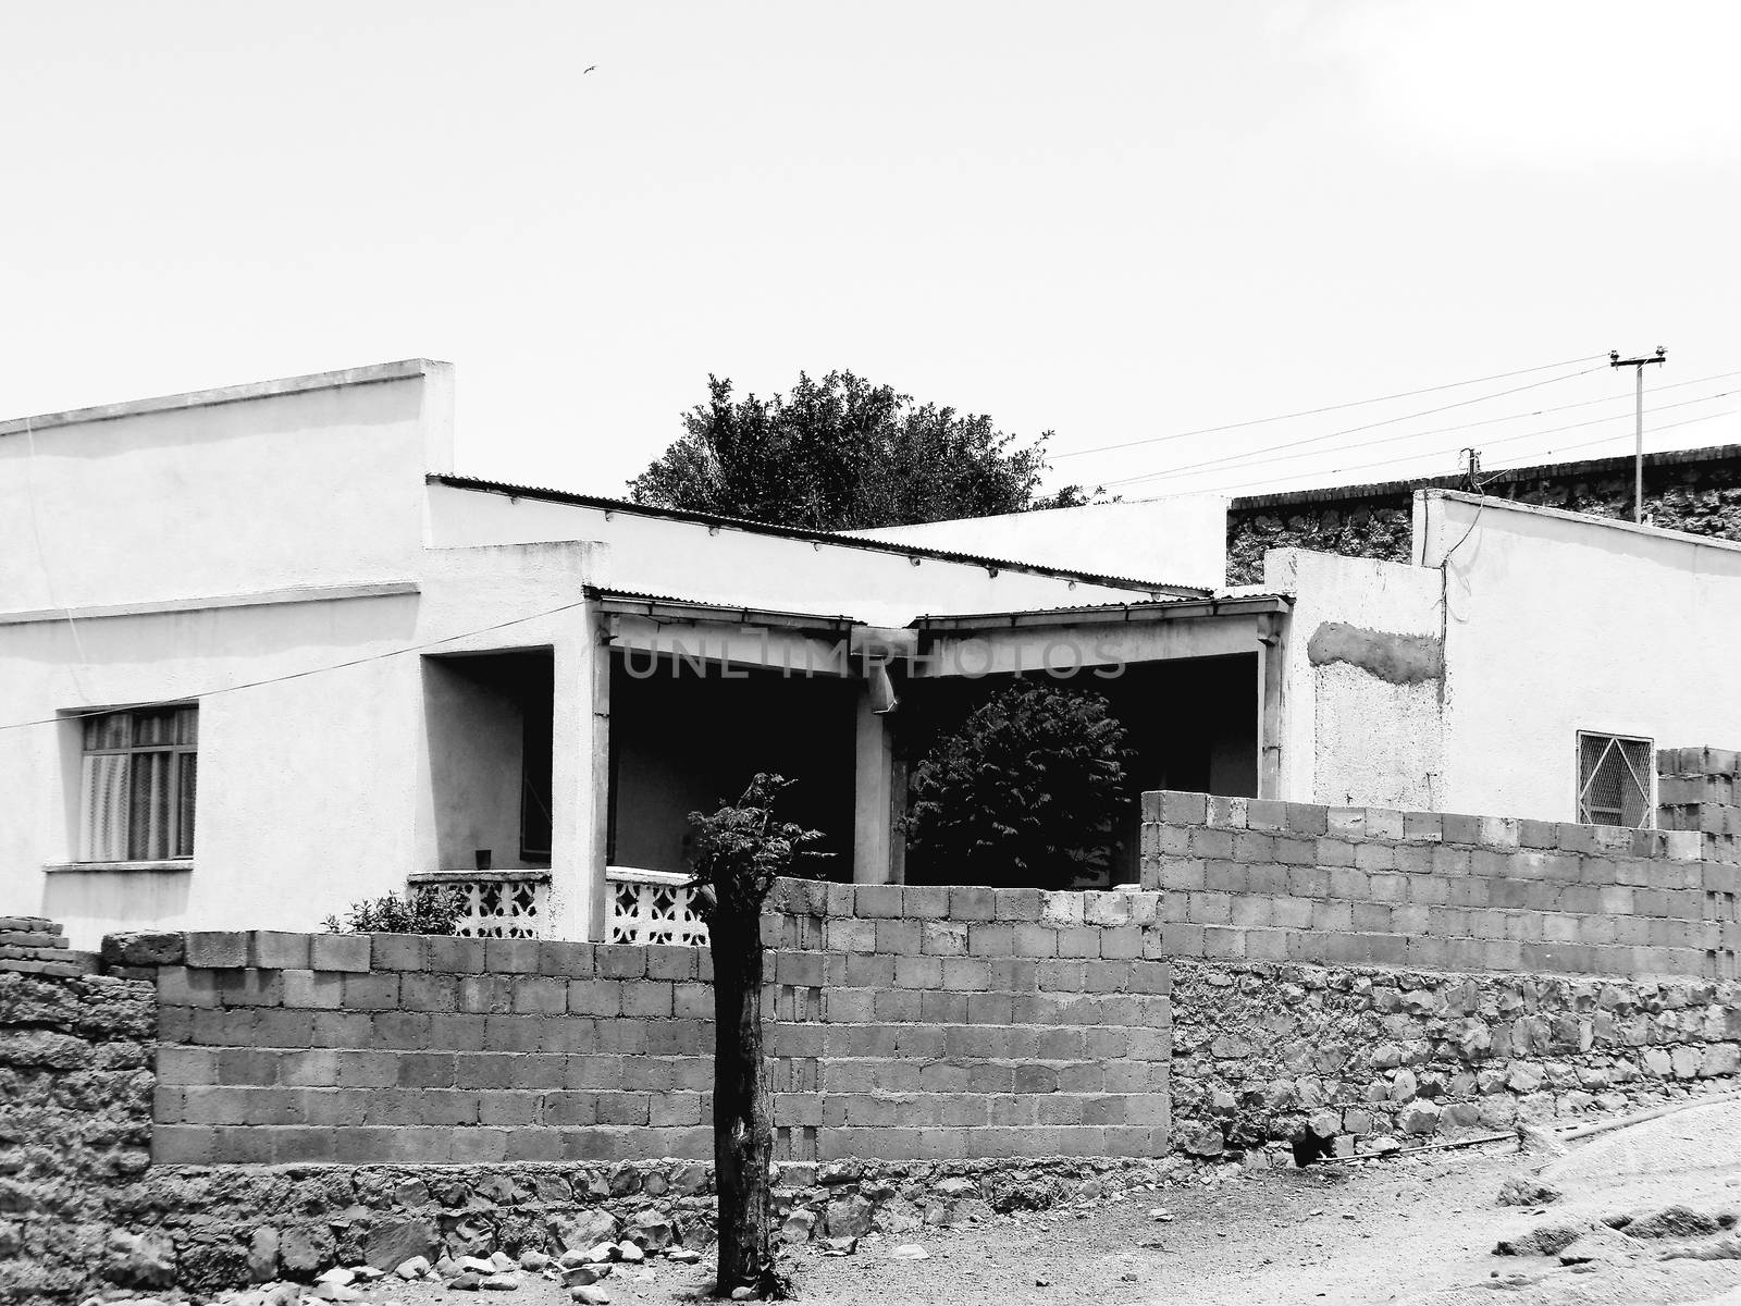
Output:
[[1052,432],[1024,446],[989,416],[853,373],[799,373],[771,399],[733,399],[719,376],[707,387],[677,442],[629,482],[635,503],[851,531],[1088,502],[1079,486],[1039,493]]

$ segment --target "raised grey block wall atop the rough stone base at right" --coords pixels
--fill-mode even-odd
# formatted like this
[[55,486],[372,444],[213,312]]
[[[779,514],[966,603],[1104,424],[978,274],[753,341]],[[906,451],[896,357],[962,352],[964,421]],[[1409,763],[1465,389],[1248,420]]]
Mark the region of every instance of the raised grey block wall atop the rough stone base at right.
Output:
[[1724,977],[1738,867],[1703,838],[1154,792],[1142,885],[1170,956]]

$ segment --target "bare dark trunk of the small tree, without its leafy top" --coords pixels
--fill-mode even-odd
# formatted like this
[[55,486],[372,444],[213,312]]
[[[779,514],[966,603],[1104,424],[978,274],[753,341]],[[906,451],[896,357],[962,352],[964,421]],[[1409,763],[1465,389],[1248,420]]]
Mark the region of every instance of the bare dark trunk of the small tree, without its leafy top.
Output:
[[763,1064],[761,912],[721,907],[709,921],[714,954],[714,1177],[719,1184],[719,1292],[785,1296],[775,1273],[768,1167],[773,1101]]

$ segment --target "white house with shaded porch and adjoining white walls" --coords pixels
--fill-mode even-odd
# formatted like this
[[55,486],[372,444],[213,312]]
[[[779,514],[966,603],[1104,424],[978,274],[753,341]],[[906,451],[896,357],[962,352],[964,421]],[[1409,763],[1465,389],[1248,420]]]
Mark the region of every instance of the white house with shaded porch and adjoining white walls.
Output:
[[609,937],[670,914],[688,811],[756,770],[837,874],[900,878],[888,691],[1046,667],[1109,697],[1140,789],[1572,820],[1638,757],[1584,731],[1741,740],[1736,545],[1433,491],[1414,566],[1283,550],[1229,592],[1224,531],[1215,500],[827,535],[482,482],[423,360],[0,423],[0,914],[94,946],[453,879],[481,928]]

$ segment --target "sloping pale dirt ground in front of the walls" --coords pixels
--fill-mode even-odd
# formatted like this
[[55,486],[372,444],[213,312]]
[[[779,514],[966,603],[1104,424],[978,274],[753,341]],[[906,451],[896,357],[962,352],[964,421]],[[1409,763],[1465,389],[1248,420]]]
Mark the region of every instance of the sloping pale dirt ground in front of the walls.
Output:
[[[1224,1168],[1153,1193],[961,1229],[865,1238],[857,1254],[790,1257],[803,1301],[949,1303],[1410,1303],[1412,1306],[1741,1306],[1741,1259],[1659,1261],[1670,1242],[1614,1236],[1619,1259],[1562,1266],[1555,1256],[1496,1256],[1502,1238],[1539,1224],[1598,1222],[1685,1202],[1741,1212],[1741,1104],[1704,1106],[1581,1144],[1546,1165],[1515,1144],[1240,1175]],[[1543,1208],[1501,1207],[1499,1188],[1541,1175],[1565,1191]],[[1165,1208],[1170,1219],[1153,1212]],[[1724,1235],[1704,1243],[1722,1243]],[[1734,1242],[1729,1238],[1729,1242]],[[902,1243],[923,1261],[891,1256]],[[613,1303],[670,1306],[712,1299],[707,1259],[653,1261],[599,1283]],[[1502,1294],[1502,1296],[1497,1296]],[[479,1294],[496,1297],[496,1294]],[[454,1306],[470,1297],[437,1285],[376,1283],[381,1306]],[[472,1297],[474,1301],[477,1297]],[[533,1275],[521,1306],[555,1306],[568,1294]]]

